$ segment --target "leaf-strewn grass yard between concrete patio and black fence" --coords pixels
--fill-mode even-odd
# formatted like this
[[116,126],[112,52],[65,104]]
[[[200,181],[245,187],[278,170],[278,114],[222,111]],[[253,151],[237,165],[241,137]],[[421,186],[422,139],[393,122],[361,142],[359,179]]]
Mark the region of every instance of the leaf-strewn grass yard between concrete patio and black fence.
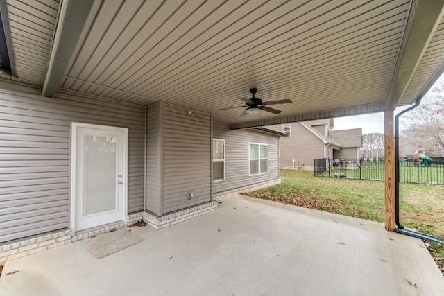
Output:
[[[280,171],[282,184],[249,196],[384,223],[384,182],[314,177],[311,171]],[[400,184],[400,222],[444,239],[444,186]],[[444,247],[431,243],[444,274]]]

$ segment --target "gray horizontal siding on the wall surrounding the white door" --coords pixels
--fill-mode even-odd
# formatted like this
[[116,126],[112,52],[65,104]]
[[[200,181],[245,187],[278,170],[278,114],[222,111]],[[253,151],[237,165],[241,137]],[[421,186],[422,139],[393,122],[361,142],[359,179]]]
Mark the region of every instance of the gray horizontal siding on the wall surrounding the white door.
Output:
[[143,106],[1,88],[0,242],[69,226],[71,121],[128,128],[128,211],[143,209]]

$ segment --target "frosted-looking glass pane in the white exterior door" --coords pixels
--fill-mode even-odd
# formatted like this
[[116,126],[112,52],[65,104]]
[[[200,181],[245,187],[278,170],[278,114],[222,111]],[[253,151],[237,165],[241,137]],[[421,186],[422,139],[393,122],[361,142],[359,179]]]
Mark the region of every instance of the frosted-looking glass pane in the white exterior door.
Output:
[[85,135],[85,216],[116,209],[116,148],[117,137]]

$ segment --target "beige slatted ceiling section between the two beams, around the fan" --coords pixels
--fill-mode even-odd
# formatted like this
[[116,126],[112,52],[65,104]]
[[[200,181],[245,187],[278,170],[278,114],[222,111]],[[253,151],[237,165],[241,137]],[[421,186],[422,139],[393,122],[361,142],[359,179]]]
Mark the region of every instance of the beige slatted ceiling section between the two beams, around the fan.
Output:
[[[239,119],[239,96],[279,116],[384,101],[409,1],[112,1],[94,16],[61,86]],[[135,94],[135,95],[133,95]],[[257,116],[256,116],[257,117]],[[262,112],[260,118],[275,117]]]

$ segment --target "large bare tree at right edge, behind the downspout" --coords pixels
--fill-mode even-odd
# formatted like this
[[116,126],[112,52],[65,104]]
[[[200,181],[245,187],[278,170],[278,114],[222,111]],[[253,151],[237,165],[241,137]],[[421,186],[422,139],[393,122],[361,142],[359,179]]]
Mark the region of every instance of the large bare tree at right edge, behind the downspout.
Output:
[[401,117],[402,134],[408,143],[444,155],[444,81],[422,98],[418,107]]

